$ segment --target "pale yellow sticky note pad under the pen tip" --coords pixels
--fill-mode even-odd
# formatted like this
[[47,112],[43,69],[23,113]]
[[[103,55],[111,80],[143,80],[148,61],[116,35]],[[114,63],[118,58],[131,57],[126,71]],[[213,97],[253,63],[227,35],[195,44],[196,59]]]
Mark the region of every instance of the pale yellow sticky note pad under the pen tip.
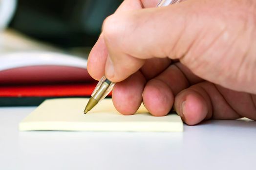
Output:
[[87,98],[44,101],[19,124],[20,131],[132,131],[182,132],[183,123],[176,114],[155,117],[143,104],[134,115],[116,111],[111,99],[104,99],[84,114]]

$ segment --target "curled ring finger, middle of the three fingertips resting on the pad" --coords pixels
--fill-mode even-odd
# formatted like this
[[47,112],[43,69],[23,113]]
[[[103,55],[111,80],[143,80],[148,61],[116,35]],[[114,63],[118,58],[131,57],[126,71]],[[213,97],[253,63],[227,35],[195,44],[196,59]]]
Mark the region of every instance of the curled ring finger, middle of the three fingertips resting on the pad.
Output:
[[165,116],[171,110],[174,96],[188,88],[191,82],[200,81],[188,68],[175,63],[146,84],[143,103],[152,115]]

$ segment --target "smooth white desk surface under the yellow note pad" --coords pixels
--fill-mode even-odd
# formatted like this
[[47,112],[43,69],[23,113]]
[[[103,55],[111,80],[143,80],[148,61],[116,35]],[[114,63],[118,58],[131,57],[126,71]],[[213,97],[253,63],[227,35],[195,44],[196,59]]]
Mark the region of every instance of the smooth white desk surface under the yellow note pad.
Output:
[[33,109],[0,108],[0,170],[255,170],[256,121],[184,133],[19,132]]

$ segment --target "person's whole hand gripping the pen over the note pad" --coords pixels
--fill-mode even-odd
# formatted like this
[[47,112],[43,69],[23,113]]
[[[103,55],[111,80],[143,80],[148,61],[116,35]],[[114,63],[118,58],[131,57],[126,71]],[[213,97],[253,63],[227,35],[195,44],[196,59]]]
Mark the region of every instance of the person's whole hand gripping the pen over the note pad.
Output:
[[256,0],[124,0],[106,18],[88,59],[90,75],[113,82],[126,115],[143,101],[154,116],[183,121],[256,120]]

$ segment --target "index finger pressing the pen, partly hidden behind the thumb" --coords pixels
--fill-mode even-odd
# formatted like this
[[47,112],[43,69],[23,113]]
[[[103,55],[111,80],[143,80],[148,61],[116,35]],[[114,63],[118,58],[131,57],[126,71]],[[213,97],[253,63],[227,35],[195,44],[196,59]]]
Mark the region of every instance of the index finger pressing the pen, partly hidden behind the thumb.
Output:
[[[124,0],[115,13],[126,10],[155,7],[158,2],[159,0]],[[103,35],[101,34],[98,41],[92,48],[87,62],[87,70],[96,80],[100,80],[104,75],[107,55],[107,48]]]

